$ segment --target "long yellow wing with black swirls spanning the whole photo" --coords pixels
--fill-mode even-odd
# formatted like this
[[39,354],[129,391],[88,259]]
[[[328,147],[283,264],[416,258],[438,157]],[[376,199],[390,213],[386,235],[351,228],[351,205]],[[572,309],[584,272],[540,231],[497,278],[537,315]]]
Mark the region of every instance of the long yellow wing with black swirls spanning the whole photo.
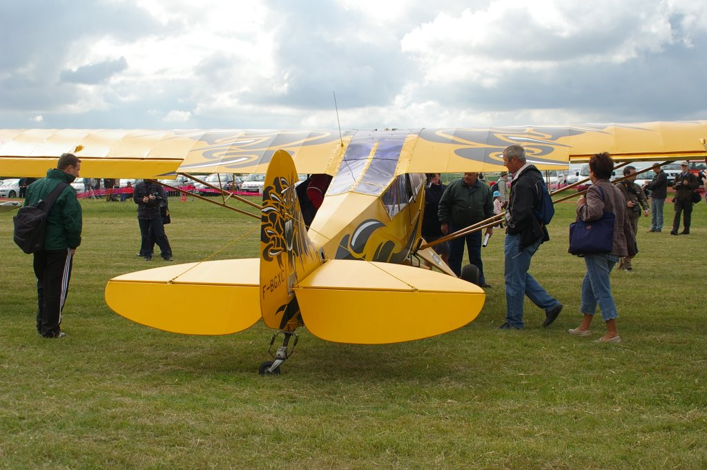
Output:
[[[0,130],[0,175],[43,176],[59,155],[74,151],[86,177],[160,177],[183,173],[264,173],[278,150],[300,173],[335,175],[340,163],[361,170],[373,156],[407,172],[503,170],[501,152],[526,148],[541,169],[587,161],[600,151],[617,160],[677,160],[702,156],[707,121],[646,122],[374,131],[268,130]],[[342,167],[344,168],[344,167]]]

